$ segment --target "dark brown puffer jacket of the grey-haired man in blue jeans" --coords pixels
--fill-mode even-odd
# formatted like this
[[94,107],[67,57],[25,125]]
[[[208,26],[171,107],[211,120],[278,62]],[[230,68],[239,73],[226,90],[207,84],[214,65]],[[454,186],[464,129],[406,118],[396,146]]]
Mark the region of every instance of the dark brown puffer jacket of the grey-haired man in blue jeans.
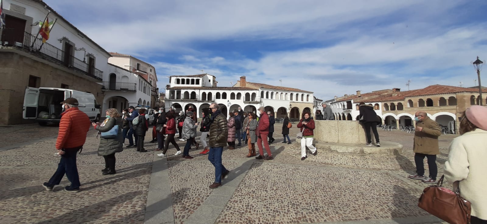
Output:
[[[228,135],[228,126],[225,116],[217,110],[212,115],[213,122],[210,125],[210,147],[225,147],[226,136]],[[214,117],[213,117],[214,116]]]

